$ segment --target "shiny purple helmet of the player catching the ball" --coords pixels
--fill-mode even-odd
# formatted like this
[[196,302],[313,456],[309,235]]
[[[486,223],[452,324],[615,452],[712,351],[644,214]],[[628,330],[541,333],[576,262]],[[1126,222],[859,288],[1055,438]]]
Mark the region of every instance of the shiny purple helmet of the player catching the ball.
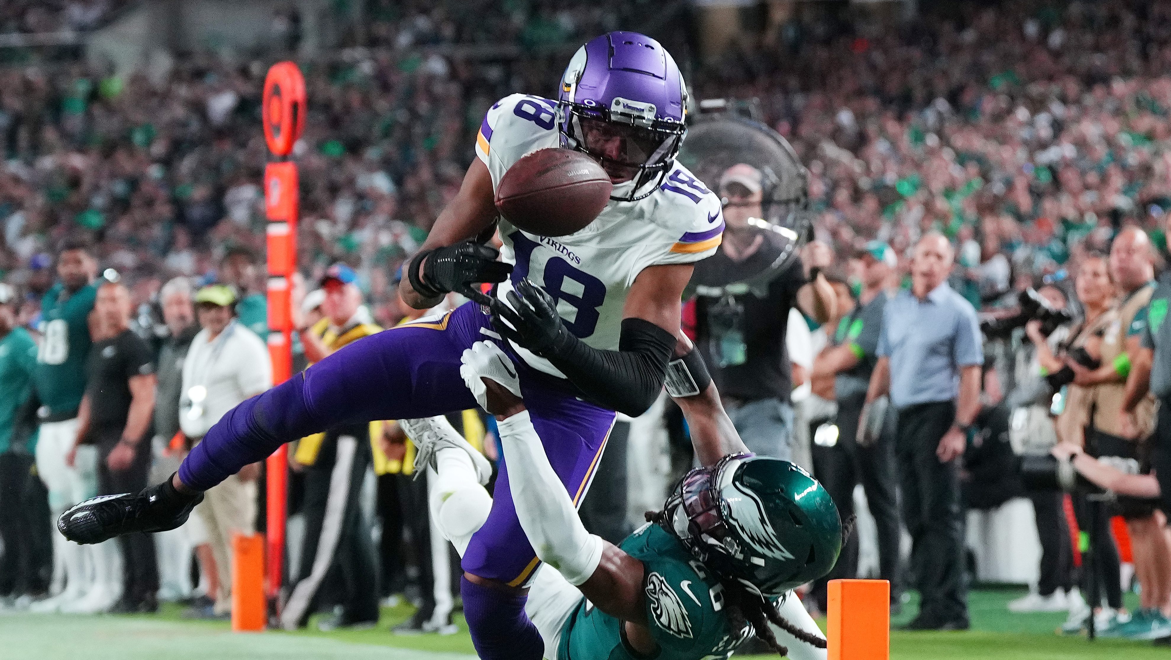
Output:
[[577,49],[557,91],[562,144],[597,159],[611,199],[651,194],[687,132],[687,88],[659,42],[611,32]]

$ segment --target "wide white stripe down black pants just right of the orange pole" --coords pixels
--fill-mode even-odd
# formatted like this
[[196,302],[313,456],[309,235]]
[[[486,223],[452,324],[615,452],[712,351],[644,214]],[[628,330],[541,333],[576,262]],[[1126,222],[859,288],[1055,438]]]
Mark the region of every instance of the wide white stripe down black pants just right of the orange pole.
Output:
[[329,565],[334,562],[334,551],[337,550],[337,541],[342,536],[342,521],[345,518],[345,504],[350,494],[350,472],[354,468],[357,447],[357,438],[352,435],[342,435],[337,439],[337,456],[334,460],[334,470],[329,474],[326,518],[321,523],[317,554],[313,557],[313,571],[309,577],[296,583],[293,596],[281,612],[281,627],[287,631],[296,630],[297,621],[309,609],[313,594],[317,592],[321,580],[326,579]]

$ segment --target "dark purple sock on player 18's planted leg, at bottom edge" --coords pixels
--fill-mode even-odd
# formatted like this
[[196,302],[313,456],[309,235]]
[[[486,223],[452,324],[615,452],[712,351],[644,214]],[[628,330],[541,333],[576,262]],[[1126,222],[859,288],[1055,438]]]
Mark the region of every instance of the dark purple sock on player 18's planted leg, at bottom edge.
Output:
[[528,596],[514,596],[459,578],[464,617],[481,660],[541,660],[545,642],[525,613]]

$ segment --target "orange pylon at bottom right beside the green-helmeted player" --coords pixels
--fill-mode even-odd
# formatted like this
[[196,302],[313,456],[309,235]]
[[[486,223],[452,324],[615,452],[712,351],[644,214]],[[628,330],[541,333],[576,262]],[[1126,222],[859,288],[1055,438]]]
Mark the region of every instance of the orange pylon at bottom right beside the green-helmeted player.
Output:
[[890,583],[830,580],[826,627],[829,660],[889,660]]

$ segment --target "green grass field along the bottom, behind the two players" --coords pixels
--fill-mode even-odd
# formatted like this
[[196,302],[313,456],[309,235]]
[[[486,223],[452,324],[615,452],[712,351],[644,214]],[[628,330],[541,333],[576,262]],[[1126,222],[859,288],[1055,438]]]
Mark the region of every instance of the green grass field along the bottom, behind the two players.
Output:
[[[1165,659],[1146,642],[1062,638],[1062,614],[1011,614],[1013,591],[972,593],[971,632],[891,633],[895,660],[1127,660]],[[915,611],[896,618],[902,623]],[[396,637],[388,628],[409,607],[386,609],[369,631],[232,633],[226,623],[185,621],[169,607],[157,617],[0,614],[0,659],[20,660],[457,660],[472,659],[466,632],[451,637]],[[463,624],[463,621],[460,621]],[[313,632],[310,632],[313,631]],[[754,658],[767,658],[763,655]]]

